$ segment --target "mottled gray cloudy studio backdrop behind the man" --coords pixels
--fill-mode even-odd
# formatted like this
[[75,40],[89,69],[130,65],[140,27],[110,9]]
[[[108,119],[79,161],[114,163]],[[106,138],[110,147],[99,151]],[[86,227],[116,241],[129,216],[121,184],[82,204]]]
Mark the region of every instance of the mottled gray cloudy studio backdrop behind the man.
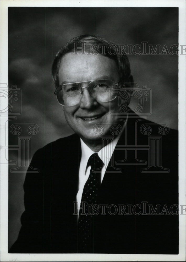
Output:
[[[72,37],[98,34],[120,45],[178,44],[178,8],[27,8],[8,9],[9,88],[22,91],[15,123],[37,124],[31,155],[60,137],[72,134],[53,94],[51,65],[59,48]],[[134,81],[152,90],[152,114],[147,119],[178,129],[178,56],[129,56]],[[132,105],[132,104],[131,104]],[[18,110],[14,105],[13,113]],[[9,134],[9,145],[18,135]],[[18,160],[18,150],[9,150]],[[16,165],[10,165],[16,168]],[[24,211],[25,173],[9,172],[9,247],[17,239]]]

